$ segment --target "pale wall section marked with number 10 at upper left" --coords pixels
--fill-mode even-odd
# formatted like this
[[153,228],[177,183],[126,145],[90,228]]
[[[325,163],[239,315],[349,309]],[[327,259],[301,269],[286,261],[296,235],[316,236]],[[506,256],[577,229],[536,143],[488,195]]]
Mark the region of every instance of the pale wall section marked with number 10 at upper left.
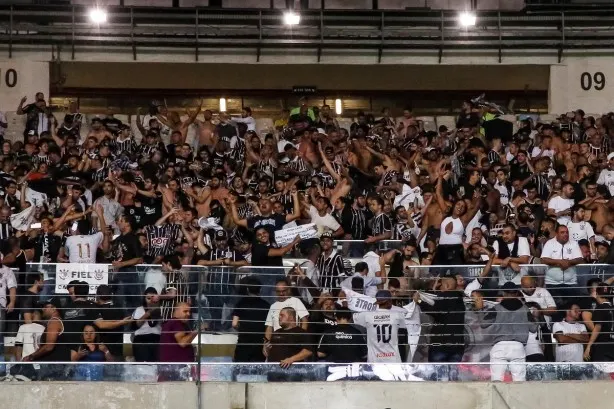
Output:
[[16,111],[21,98],[34,102],[37,92],[49,100],[49,63],[27,60],[0,61],[0,111]]

